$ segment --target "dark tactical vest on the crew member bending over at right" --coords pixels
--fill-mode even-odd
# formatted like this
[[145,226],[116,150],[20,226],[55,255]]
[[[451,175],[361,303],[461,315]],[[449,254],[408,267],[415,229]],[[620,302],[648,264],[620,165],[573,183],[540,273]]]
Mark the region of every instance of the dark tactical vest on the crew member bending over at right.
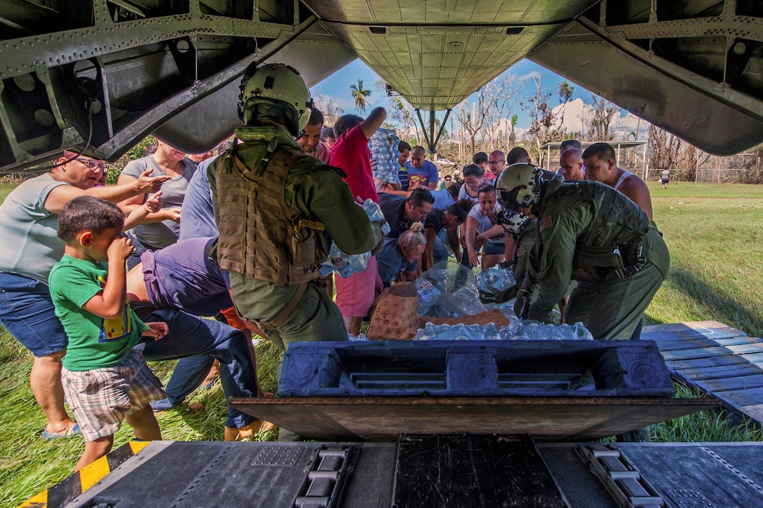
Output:
[[604,184],[580,182],[562,185],[553,198],[594,205],[594,220],[575,245],[573,278],[601,280],[613,270],[626,277],[646,264],[649,218],[625,195]]

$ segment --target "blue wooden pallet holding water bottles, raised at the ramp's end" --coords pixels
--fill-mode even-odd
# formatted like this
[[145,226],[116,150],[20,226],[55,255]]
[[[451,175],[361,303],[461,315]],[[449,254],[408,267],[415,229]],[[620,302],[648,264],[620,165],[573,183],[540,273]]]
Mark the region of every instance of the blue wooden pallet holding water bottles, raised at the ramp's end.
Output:
[[279,397],[672,397],[649,340],[297,342]]

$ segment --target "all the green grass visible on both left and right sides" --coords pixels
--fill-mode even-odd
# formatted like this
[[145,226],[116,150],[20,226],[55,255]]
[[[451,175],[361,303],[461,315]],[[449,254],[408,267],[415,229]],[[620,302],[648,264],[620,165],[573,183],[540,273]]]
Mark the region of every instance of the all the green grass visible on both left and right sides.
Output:
[[[11,185],[0,182],[0,198]],[[713,185],[671,182],[668,189],[649,183],[655,221],[671,249],[671,274],[647,310],[645,321],[677,323],[718,320],[751,336],[763,331],[763,185]],[[275,391],[280,352],[269,342],[256,346],[260,384]],[[151,365],[169,379],[175,362]],[[28,384],[31,355],[5,330],[0,331],[0,505],[15,506],[72,471],[82,439],[40,439],[45,425]],[[679,397],[699,392],[678,385]],[[187,403],[201,402],[201,413],[181,407],[157,414],[164,439],[221,440],[225,417],[220,383],[198,390]],[[652,426],[655,441],[761,440],[760,430],[729,424],[723,413],[703,412]],[[115,446],[127,442],[126,424]],[[276,439],[276,432],[259,436]]]

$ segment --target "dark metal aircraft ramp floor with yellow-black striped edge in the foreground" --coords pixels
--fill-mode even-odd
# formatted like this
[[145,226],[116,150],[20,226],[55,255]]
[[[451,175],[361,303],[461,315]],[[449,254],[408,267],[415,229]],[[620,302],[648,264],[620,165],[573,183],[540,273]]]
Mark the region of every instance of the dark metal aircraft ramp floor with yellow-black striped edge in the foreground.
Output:
[[[154,441],[125,453],[132,445],[109,454],[110,473],[92,477],[94,463],[21,506],[748,508],[763,499],[759,442],[451,435],[389,443]],[[591,454],[601,468],[592,467]]]

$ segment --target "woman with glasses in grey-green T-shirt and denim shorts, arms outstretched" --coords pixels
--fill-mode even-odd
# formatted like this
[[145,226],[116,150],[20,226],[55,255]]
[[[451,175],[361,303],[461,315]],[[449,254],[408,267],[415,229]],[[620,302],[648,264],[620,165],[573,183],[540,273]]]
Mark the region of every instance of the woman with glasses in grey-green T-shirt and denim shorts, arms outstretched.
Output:
[[65,151],[49,172],[18,185],[0,205],[0,238],[6,245],[0,249],[0,323],[34,355],[30,384],[47,418],[45,439],[79,432],[63,406],[61,358],[67,339],[47,285],[50,269],[63,256],[58,214],[78,196],[117,203],[156,192],[167,179],[146,171],[127,185],[95,187],[103,171],[103,161]]

